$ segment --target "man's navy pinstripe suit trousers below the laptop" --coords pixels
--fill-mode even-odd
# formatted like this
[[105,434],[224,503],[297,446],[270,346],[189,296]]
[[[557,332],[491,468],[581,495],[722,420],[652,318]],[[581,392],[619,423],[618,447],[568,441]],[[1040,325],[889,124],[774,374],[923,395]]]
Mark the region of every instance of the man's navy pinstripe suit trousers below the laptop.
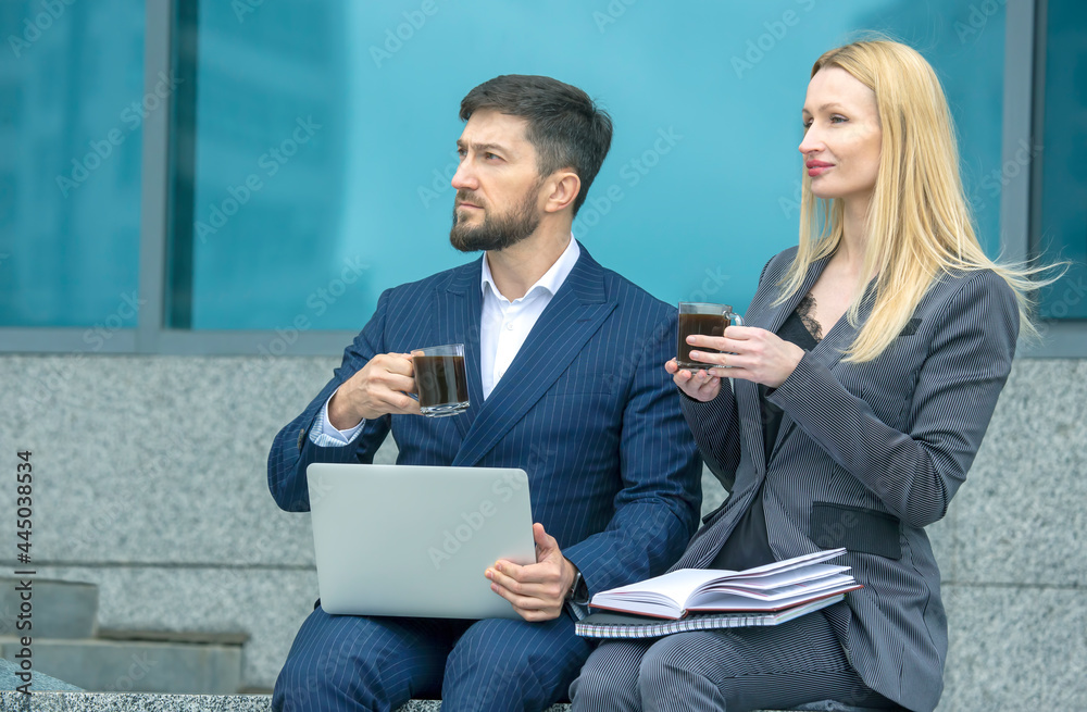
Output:
[[563,613],[546,623],[329,615],[317,605],[279,672],[272,710],[387,712],[440,696],[445,712],[538,711],[591,647]]

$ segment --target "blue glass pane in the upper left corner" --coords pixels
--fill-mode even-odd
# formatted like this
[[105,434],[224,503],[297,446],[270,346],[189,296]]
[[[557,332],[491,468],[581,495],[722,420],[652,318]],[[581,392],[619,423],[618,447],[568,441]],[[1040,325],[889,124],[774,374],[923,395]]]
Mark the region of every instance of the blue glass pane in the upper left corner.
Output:
[[134,327],[143,3],[0,1],[0,326]]

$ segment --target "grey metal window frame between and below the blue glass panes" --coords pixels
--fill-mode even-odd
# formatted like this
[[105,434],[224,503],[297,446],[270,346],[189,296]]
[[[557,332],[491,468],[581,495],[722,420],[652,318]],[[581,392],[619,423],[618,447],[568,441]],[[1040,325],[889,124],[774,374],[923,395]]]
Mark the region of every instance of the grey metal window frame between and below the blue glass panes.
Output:
[[[146,3],[143,89],[153,91],[160,73],[170,74],[176,54],[178,9],[196,0]],[[1034,145],[1034,128],[1042,126],[1045,90],[1045,27],[1047,0],[1005,5],[1004,97],[1002,162],[1014,160],[1022,141]],[[1039,33],[1040,28],[1040,33]],[[273,329],[189,330],[167,328],[165,295],[166,255],[171,236],[171,134],[174,96],[165,110],[150,114],[142,127],[140,175],[139,295],[147,300],[138,324],[121,329],[93,350],[96,353],[170,355],[260,355],[279,339]],[[1000,247],[1003,259],[1032,257],[1030,236],[1036,233],[1044,154],[1024,172],[1026,179],[1009,180],[1000,197]],[[361,328],[360,324],[360,328]],[[1022,358],[1087,357],[1087,321],[1049,321],[1040,324],[1045,339],[1024,343]],[[86,353],[86,327],[0,327],[0,353]],[[312,330],[297,335],[283,355],[336,355],[354,338],[355,330]]]

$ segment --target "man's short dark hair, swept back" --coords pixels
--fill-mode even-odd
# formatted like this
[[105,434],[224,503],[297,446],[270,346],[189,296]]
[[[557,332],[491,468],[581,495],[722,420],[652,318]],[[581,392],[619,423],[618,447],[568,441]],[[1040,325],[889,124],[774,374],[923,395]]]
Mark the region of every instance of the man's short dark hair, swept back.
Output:
[[574,214],[611,147],[611,116],[577,87],[545,76],[505,74],[484,82],[461,101],[461,121],[482,109],[521,116],[536,149],[540,177],[573,168],[582,179]]

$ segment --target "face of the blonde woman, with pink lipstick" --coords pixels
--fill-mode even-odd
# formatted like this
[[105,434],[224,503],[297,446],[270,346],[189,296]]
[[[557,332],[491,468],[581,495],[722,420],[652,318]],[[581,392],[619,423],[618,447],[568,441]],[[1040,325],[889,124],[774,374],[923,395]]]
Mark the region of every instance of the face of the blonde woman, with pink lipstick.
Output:
[[800,152],[819,198],[869,200],[879,171],[876,95],[837,66],[808,83]]

